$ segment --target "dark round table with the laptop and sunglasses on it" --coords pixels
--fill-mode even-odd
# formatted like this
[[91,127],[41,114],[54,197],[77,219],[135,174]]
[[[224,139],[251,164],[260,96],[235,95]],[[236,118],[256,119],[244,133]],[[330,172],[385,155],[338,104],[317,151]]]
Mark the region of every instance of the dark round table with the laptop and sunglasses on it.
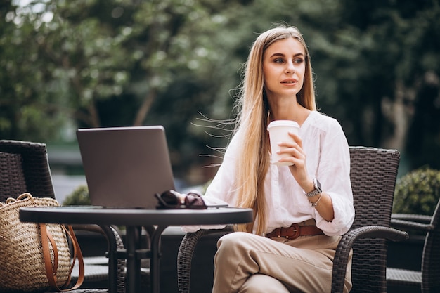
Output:
[[127,292],[138,292],[140,287],[141,228],[154,226],[150,243],[151,292],[159,289],[160,235],[168,226],[221,225],[253,221],[252,209],[232,207],[209,209],[118,209],[108,207],[23,207],[20,221],[34,223],[97,224],[126,226]]

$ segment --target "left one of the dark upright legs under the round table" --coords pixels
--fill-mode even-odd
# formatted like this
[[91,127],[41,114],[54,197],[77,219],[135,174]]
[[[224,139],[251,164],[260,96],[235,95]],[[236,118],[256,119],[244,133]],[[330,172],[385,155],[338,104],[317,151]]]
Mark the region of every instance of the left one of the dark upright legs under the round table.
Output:
[[140,247],[141,227],[127,226],[127,275],[125,286],[127,293],[137,293],[141,289],[141,259],[136,251]]

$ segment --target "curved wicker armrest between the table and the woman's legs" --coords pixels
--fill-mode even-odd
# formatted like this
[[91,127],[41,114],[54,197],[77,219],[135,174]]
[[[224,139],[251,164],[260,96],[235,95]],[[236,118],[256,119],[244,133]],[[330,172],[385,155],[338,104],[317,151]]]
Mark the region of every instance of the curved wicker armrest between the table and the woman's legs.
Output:
[[226,226],[223,229],[198,230],[194,233],[186,233],[183,237],[179,252],[177,254],[177,284],[179,293],[190,292],[190,275],[191,275],[191,261],[198,241],[203,235],[213,233],[231,233],[233,226]]

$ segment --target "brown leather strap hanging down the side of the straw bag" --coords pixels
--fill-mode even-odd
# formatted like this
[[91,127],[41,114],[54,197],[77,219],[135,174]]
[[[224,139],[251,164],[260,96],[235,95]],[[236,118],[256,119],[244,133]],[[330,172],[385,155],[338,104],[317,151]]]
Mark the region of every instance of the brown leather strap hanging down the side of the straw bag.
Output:
[[[70,240],[72,240],[73,261],[72,261],[72,265],[70,266],[69,277],[67,278],[67,281],[65,282],[64,285],[58,287],[56,280],[57,279],[56,272],[58,270],[58,248],[56,247],[56,242],[53,239],[51,233],[48,231],[46,224],[39,223],[39,227],[41,230],[41,244],[43,246],[44,266],[46,268],[46,277],[48,283],[52,289],[66,292],[72,289],[78,289],[82,285],[82,282],[84,282],[84,259],[82,257],[82,252],[81,249],[79,248],[79,243],[77,237],[75,236],[72,226],[69,225],[68,230],[67,228],[65,228],[64,225],[61,226],[63,227],[63,230],[65,230],[65,233],[70,237]],[[51,242],[51,246],[53,248],[53,264],[51,260],[51,251],[49,249],[48,242]],[[78,265],[79,265],[78,280],[72,288],[65,289],[65,286],[69,285],[70,283],[70,276],[72,275],[72,270],[73,267],[75,266],[76,259],[78,259]]]

